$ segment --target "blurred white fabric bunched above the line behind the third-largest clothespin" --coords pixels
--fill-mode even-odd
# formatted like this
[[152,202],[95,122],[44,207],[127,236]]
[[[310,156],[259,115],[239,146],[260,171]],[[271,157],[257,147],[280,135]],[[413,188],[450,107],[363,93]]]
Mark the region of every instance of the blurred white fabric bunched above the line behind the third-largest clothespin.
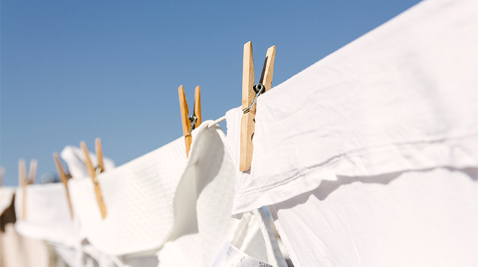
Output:
[[[86,170],[84,152],[80,148],[72,145],[67,145],[60,153],[60,157],[66,162],[68,171],[73,178],[88,177],[88,170]],[[93,167],[98,165],[98,157],[93,152],[89,152],[89,158]],[[115,162],[108,157],[103,157],[103,165],[105,171],[115,168]]]

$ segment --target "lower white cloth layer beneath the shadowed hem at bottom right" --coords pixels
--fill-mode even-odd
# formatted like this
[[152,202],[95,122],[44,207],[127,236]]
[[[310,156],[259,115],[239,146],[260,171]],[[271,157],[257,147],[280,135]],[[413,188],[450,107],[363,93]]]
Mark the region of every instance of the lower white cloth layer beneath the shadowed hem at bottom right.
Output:
[[294,266],[478,266],[478,169],[340,176],[271,206]]

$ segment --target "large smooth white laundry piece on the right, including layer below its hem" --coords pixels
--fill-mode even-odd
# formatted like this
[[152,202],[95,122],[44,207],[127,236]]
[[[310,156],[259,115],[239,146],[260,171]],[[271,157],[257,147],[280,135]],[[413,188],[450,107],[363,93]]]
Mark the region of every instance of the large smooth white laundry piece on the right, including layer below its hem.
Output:
[[295,266],[476,266],[477,8],[423,1],[257,98],[250,171],[227,112],[233,214],[269,205]]

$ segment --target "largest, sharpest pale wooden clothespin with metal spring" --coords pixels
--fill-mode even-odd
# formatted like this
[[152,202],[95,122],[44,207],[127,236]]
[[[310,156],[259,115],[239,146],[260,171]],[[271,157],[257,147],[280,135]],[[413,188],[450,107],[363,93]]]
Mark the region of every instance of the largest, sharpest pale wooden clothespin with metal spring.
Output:
[[261,79],[254,85],[254,58],[252,56],[252,42],[244,45],[243,58],[243,117],[240,122],[240,159],[239,170],[247,171],[251,167],[252,136],[255,131],[256,103],[257,96],[269,91],[272,87],[272,75],[274,72],[274,60],[276,58],[276,46],[267,49],[266,60],[262,67]]

